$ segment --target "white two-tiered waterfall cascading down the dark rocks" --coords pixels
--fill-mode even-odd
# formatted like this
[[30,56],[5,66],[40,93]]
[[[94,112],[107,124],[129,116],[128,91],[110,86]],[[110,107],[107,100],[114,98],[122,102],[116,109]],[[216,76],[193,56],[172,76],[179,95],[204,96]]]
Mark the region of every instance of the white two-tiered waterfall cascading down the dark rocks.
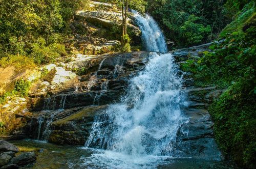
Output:
[[[150,16],[134,14],[148,51],[167,52],[164,36]],[[179,127],[186,121],[182,76],[172,54],[152,52],[138,76],[130,80],[120,103],[95,118],[86,147],[125,155],[172,156]]]

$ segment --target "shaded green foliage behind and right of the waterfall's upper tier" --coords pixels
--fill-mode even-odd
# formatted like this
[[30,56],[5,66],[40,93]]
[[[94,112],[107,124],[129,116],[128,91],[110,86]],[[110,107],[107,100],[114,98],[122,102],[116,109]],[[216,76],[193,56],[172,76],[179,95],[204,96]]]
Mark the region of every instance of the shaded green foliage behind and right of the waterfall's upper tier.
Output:
[[228,16],[224,0],[148,0],[147,4],[148,13],[176,47],[215,39],[232,17]]

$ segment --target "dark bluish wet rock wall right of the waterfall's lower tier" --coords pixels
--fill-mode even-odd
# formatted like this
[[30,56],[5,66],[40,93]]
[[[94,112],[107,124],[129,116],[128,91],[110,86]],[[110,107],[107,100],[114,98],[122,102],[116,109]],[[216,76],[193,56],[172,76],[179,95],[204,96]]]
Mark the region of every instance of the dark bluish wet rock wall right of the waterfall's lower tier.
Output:
[[[222,91],[222,90],[221,90]],[[178,154],[206,160],[223,160],[223,156],[214,140],[208,105],[220,92],[216,87],[196,88],[189,86],[183,90],[189,106],[184,110],[187,123],[177,133]]]

